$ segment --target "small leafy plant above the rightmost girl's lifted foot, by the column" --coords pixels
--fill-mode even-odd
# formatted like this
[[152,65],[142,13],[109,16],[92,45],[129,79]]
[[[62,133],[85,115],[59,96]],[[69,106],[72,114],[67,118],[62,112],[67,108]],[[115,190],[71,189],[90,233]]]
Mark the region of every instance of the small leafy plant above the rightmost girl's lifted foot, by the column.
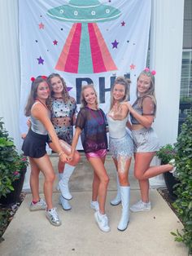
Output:
[[159,148],[159,151],[156,152],[156,156],[159,157],[162,164],[168,164],[172,158],[175,158],[176,149],[172,144],[166,144],[165,146]]

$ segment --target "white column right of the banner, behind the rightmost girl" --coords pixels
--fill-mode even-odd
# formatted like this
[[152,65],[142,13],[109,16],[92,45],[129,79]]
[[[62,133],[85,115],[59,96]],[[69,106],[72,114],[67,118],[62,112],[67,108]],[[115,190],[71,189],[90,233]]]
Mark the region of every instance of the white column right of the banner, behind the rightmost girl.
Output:
[[[150,63],[156,71],[157,99],[154,128],[161,146],[177,141],[183,15],[184,0],[152,0]],[[159,176],[151,179],[152,185],[155,180],[159,183]]]

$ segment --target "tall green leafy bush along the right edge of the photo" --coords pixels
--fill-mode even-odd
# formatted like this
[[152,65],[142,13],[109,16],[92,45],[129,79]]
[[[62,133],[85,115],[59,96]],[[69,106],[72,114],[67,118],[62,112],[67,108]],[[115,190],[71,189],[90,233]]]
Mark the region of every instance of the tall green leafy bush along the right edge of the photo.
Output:
[[181,219],[184,228],[181,232],[172,232],[175,241],[181,241],[189,248],[192,254],[192,112],[186,117],[181,126],[181,134],[175,143],[177,177],[180,183],[177,185],[177,200],[173,207]]

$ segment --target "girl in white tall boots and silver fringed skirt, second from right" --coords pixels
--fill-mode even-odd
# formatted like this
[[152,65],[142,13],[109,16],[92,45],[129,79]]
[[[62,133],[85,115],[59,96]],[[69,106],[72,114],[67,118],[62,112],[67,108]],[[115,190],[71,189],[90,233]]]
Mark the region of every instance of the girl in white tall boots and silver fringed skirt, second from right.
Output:
[[[129,166],[133,155],[133,140],[126,129],[129,110],[125,102],[129,98],[129,82],[117,77],[111,87],[111,108],[107,114],[109,126],[109,149],[116,166],[117,196],[111,205],[122,204],[122,214],[118,230],[124,231],[129,223]],[[120,184],[120,185],[119,185]]]

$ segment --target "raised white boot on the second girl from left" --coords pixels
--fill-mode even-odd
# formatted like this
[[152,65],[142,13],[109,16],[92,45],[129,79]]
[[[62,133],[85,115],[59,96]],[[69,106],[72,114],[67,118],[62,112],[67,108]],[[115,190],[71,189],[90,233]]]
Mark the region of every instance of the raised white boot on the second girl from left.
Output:
[[68,189],[68,181],[74,169],[75,169],[75,166],[69,166],[68,164],[65,164],[65,169],[63,171],[62,179],[59,181],[60,192],[62,193],[62,196],[67,200],[72,199],[72,195]]

